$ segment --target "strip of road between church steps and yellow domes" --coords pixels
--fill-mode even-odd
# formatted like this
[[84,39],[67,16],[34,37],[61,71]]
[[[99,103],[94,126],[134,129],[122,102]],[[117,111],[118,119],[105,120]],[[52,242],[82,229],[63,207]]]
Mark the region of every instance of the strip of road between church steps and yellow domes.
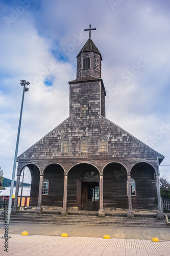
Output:
[[[28,231],[29,235],[39,234],[45,236],[61,236],[67,233],[69,237],[95,237],[103,238],[109,234],[111,238],[123,239],[152,239],[170,241],[169,228],[147,227],[117,227],[117,226],[87,226],[87,225],[58,225],[58,224],[28,224],[10,223],[9,234],[21,234]],[[4,233],[4,225],[0,224],[0,233]]]

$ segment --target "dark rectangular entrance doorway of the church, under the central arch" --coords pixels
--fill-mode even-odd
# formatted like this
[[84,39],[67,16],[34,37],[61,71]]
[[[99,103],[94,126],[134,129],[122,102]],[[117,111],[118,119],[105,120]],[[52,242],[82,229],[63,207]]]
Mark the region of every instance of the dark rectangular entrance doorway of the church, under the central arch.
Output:
[[99,210],[99,182],[82,182],[81,210]]

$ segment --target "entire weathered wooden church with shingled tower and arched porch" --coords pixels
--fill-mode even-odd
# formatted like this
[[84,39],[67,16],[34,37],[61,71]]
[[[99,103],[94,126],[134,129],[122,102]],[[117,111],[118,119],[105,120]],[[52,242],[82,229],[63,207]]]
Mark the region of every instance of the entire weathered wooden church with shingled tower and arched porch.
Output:
[[69,82],[69,117],[18,158],[32,176],[30,206],[96,210],[157,209],[162,218],[159,164],[163,156],[105,117],[102,55],[89,39],[77,55],[77,78]]

